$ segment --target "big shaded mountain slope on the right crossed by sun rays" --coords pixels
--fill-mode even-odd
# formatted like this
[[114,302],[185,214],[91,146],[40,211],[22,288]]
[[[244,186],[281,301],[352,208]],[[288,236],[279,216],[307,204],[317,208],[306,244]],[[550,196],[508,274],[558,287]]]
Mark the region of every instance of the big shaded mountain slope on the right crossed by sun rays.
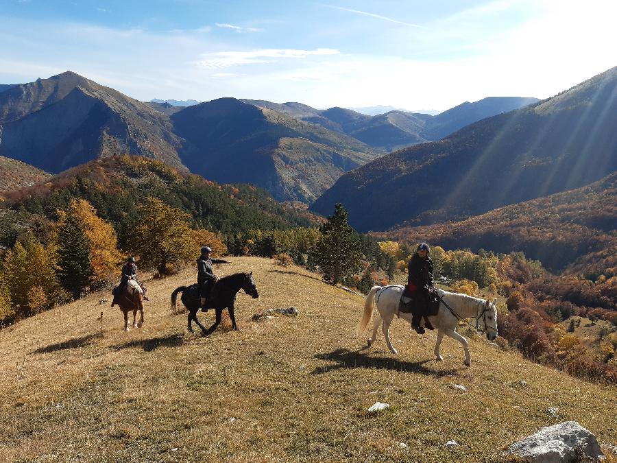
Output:
[[589,185],[617,170],[616,95],[617,67],[441,141],[382,156],[339,178],[311,209],[326,214],[341,202],[356,229],[386,230]]

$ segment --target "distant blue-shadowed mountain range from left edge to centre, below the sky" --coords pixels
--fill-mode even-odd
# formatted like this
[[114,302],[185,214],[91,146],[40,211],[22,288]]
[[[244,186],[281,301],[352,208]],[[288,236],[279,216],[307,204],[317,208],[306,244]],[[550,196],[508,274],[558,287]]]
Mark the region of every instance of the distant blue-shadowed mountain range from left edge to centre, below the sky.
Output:
[[[5,84],[0,87],[0,156],[53,174],[99,157],[136,154],[217,182],[250,182],[278,200],[310,203],[346,171],[426,141],[429,127],[438,132],[440,123],[457,126],[441,115],[400,111],[370,117],[263,100],[174,106],[180,103],[139,102],[71,71]],[[476,110],[473,117],[494,110]]]

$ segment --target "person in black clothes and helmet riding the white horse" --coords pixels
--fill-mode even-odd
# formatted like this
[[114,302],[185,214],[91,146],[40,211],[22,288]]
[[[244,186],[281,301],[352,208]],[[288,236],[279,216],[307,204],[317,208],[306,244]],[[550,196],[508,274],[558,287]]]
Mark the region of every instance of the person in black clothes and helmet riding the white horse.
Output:
[[[418,252],[413,254],[407,268],[407,292],[416,301],[416,310],[411,318],[411,328],[418,334],[424,334],[424,328],[420,327],[422,316],[428,313],[428,290],[433,287],[433,261],[428,257],[431,248],[422,243],[418,246]],[[426,328],[433,329],[431,322],[424,319]]]

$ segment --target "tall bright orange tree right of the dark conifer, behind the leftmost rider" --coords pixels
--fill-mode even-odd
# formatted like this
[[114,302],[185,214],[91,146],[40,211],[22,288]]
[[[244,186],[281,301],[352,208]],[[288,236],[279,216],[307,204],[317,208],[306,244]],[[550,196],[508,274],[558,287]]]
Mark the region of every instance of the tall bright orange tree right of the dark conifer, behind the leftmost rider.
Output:
[[[100,285],[120,272],[123,256],[118,250],[116,230],[112,224],[101,219],[93,205],[86,200],[72,200],[69,207],[84,227],[92,257],[93,284]],[[58,215],[58,226],[62,226],[66,214],[59,211]]]

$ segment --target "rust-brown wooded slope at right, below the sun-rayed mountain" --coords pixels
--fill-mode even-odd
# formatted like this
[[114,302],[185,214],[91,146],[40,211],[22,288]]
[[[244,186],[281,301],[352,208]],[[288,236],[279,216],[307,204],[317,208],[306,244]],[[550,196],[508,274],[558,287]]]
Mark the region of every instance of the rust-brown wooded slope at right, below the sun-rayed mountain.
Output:
[[595,268],[609,271],[617,263],[617,173],[588,187],[504,206],[461,222],[402,226],[379,235],[428,241],[447,249],[522,251],[552,270],[577,263],[577,274],[584,273],[578,259],[593,256]]

